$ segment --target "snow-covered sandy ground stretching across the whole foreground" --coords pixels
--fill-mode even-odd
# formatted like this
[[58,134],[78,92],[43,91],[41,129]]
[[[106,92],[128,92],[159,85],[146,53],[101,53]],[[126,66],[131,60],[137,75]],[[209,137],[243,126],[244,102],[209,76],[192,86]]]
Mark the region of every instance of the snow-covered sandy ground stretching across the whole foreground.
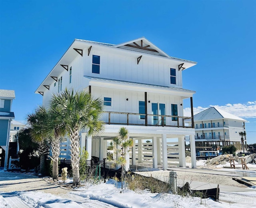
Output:
[[[220,197],[221,203],[219,203],[211,199],[197,197],[181,197],[174,194],[152,194],[145,190],[138,192],[128,189],[121,190],[120,183],[112,179],[108,180],[105,184],[89,186],[88,189],[78,188],[77,191],[66,190],[54,184],[48,184],[44,180],[39,181],[39,179],[26,174],[0,170],[0,207],[248,208],[256,206],[256,191],[253,191],[253,189],[248,189],[252,190],[249,192],[224,192]],[[28,181],[22,182],[22,180]],[[16,186],[14,186],[14,183]],[[33,183],[33,185],[28,186],[30,183]]]

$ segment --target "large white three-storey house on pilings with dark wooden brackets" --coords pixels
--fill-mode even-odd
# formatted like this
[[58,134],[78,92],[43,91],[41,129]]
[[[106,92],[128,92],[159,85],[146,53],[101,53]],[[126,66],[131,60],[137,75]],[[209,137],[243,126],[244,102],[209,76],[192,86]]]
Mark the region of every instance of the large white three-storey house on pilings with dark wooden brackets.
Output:
[[[107,142],[124,126],[134,141],[130,164],[151,162],[164,170],[168,165],[184,167],[184,138],[189,135],[192,167],[196,167],[194,126],[184,125],[188,117],[183,116],[182,106],[188,98],[193,109],[195,92],[182,88],[182,72],[194,65],[169,56],[144,37],[122,44],[75,39],[36,93],[43,96],[46,107],[52,94],[65,88],[89,91],[104,100],[105,132],[92,138],[81,132],[81,148],[86,146],[89,159],[106,158]],[[143,140],[151,141],[150,150],[144,150]]]

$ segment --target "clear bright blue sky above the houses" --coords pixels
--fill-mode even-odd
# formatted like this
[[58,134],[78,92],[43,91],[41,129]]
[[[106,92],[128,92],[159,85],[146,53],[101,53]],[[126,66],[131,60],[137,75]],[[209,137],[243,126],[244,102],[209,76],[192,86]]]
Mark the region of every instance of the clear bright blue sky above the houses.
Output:
[[195,112],[219,106],[245,118],[248,143],[256,143],[255,11],[255,0],[0,0],[0,89],[15,90],[12,110],[24,120],[75,38],[118,44],[145,36],[198,62],[183,72]]

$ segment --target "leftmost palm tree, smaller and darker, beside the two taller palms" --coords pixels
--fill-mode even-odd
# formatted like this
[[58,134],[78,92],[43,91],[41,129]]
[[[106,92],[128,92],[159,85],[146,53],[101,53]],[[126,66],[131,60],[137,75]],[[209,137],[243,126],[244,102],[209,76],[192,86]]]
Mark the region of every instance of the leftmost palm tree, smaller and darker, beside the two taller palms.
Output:
[[40,155],[40,174],[45,174],[45,156],[49,154],[49,141],[43,131],[42,125],[48,121],[48,115],[44,107],[38,106],[35,113],[27,116],[27,123],[30,126],[32,141],[37,143]]

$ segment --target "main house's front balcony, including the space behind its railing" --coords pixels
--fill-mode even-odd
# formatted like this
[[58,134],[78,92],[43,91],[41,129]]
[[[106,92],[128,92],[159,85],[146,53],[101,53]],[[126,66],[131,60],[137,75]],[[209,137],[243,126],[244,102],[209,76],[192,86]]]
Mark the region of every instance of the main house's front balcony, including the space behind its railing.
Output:
[[194,128],[194,126],[185,126],[184,120],[191,118],[192,117],[112,111],[104,111],[102,116],[102,120],[105,124]]

